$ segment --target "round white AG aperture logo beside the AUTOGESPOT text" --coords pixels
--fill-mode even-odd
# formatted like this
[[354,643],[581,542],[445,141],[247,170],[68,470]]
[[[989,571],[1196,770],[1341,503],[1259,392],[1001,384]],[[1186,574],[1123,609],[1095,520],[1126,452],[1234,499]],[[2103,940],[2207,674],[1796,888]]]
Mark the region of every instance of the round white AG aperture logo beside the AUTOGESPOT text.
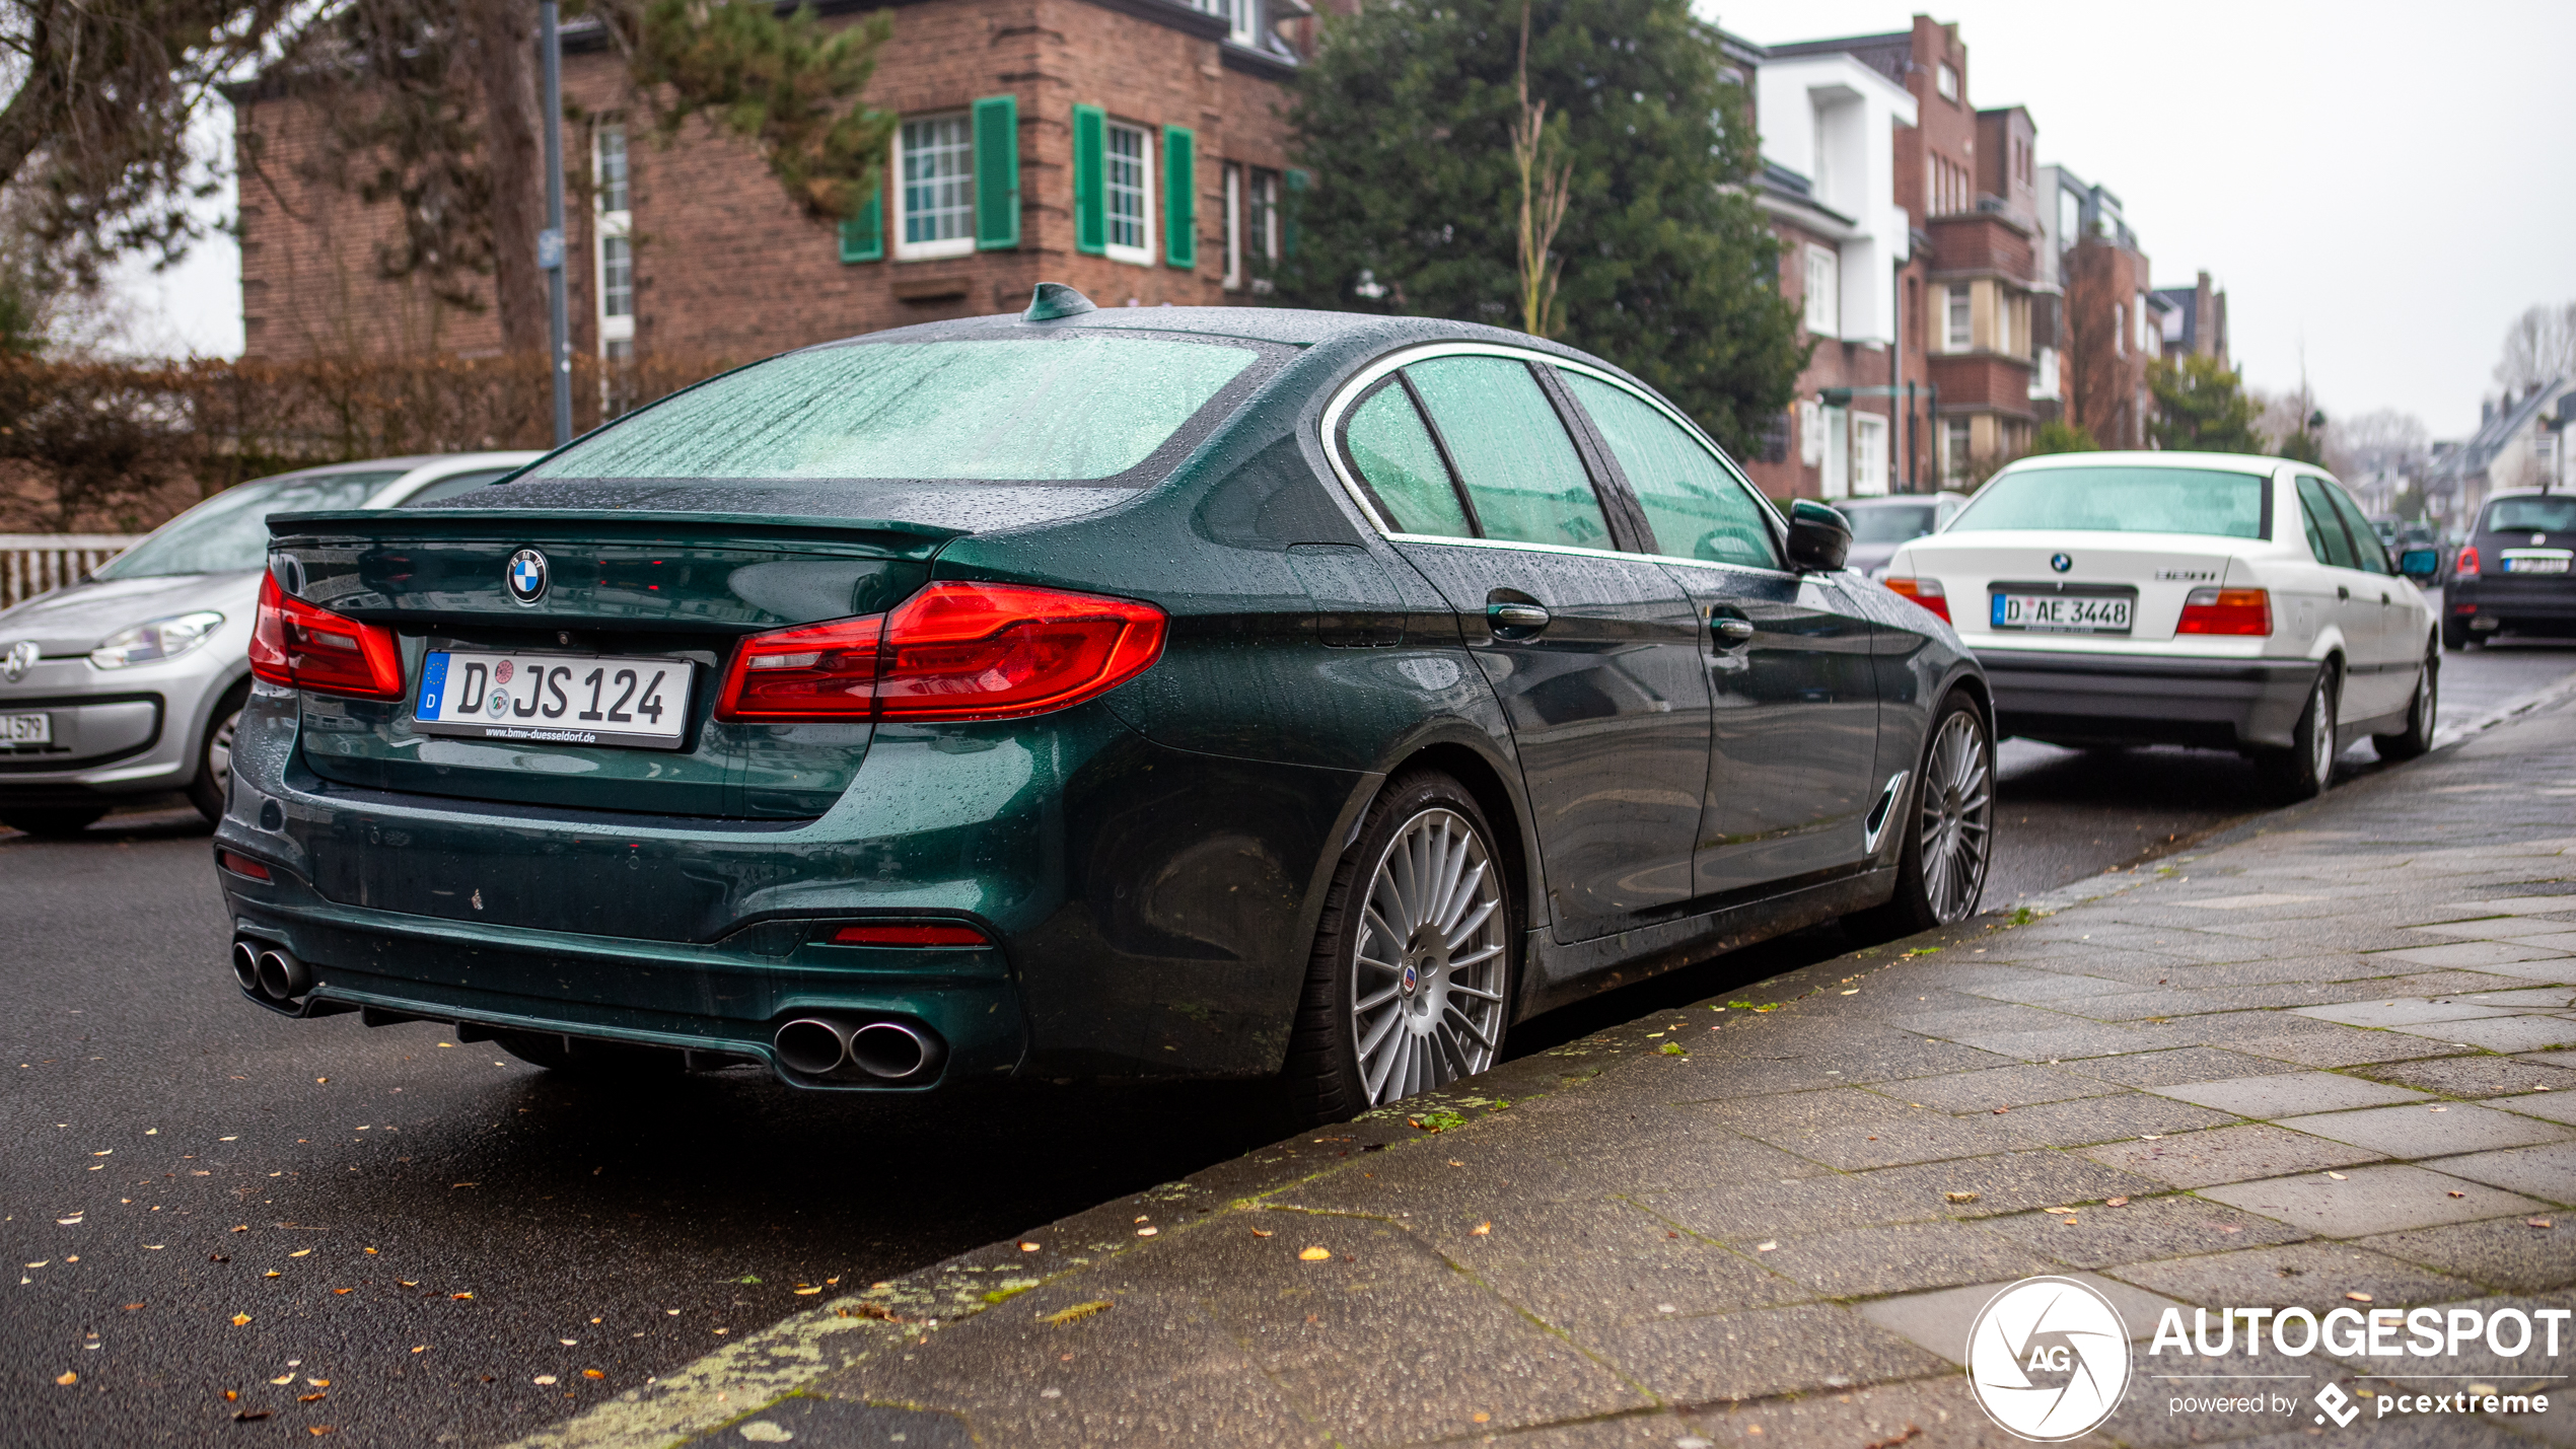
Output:
[[1994,1423],[2043,1444],[2089,1434],[2128,1390],[2120,1310],[2076,1279],[2022,1279],[1968,1328],[1968,1387]]

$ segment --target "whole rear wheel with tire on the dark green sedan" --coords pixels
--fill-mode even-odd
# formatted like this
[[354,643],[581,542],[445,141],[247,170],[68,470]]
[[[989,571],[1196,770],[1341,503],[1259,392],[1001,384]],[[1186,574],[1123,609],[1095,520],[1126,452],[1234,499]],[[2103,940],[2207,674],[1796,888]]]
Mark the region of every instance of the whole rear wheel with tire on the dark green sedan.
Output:
[[1342,1122],[1494,1066],[1512,906],[1484,808],[1437,772],[1368,808],[1324,896],[1288,1045],[1288,1107]]

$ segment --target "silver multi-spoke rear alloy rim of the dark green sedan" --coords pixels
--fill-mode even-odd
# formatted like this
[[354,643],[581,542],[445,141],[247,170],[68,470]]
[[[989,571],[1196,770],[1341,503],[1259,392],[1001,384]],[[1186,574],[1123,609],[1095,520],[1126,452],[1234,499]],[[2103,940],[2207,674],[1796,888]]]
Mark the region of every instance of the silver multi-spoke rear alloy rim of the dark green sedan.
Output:
[[1368,1104],[1494,1066],[1510,970],[1502,883],[1466,816],[1404,821],[1368,878],[1350,1032]]

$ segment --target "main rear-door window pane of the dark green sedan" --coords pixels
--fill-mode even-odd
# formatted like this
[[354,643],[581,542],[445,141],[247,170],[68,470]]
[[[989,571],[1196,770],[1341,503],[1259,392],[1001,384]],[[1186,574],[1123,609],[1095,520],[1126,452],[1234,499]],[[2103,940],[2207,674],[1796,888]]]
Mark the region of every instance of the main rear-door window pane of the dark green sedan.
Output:
[[1610,548],[1592,476],[1525,363],[1432,358],[1404,376],[1448,443],[1486,538]]

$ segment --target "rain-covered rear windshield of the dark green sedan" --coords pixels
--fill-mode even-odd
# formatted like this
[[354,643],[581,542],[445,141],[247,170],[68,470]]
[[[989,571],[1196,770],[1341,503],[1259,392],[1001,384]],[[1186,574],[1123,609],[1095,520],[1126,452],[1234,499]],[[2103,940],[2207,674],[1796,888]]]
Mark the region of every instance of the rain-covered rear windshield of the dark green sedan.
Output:
[[1103,481],[1239,394],[1229,383],[1249,386],[1262,355],[1079,332],[814,347],[683,391],[520,476]]

